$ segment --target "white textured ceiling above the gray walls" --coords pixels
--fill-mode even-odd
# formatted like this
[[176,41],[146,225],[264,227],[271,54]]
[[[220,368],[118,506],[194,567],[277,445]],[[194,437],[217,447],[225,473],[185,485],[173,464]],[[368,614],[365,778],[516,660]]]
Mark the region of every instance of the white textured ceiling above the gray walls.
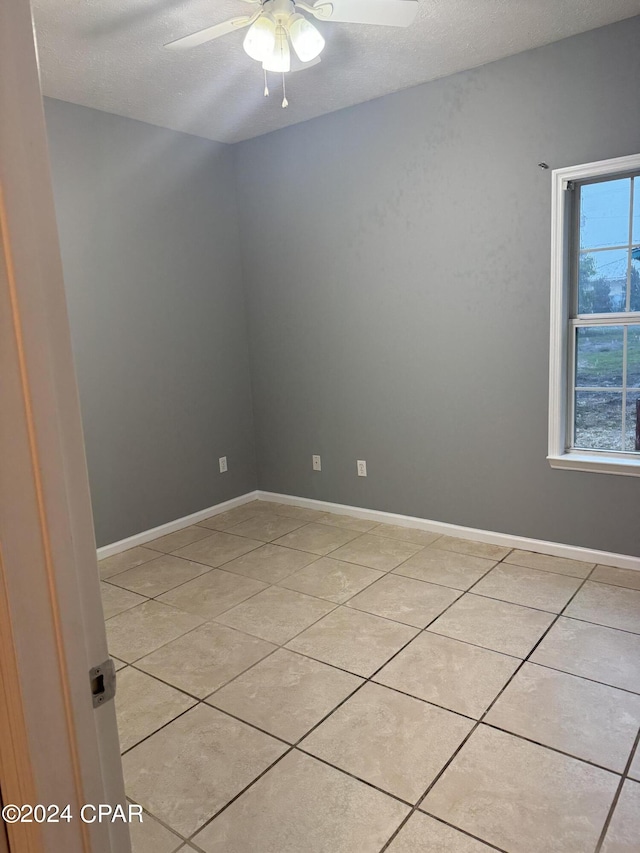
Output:
[[244,32],[184,53],[172,39],[247,14],[241,0],[33,0],[44,93],[221,142],[473,68],[640,12],[639,0],[420,0],[408,29],[317,23],[322,63],[262,94]]

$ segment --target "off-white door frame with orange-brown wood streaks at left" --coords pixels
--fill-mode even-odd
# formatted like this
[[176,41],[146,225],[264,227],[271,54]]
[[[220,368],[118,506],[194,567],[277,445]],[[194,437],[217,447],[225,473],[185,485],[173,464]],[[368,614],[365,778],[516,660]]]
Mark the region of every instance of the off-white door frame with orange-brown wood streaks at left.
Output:
[[71,807],[14,823],[12,853],[128,853],[80,409],[28,0],[0,3],[0,783],[5,803]]

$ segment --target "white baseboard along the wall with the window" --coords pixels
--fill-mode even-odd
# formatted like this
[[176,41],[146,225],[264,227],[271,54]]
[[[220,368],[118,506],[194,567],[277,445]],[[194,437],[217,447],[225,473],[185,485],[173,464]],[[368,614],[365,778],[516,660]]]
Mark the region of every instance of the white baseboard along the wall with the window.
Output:
[[549,554],[552,557],[567,557],[569,560],[583,560],[586,563],[601,563],[605,566],[616,566],[620,569],[640,571],[640,557],[632,557],[627,554],[596,551],[593,548],[582,548],[579,545],[563,545],[559,542],[545,542],[543,539],[529,539],[526,536],[511,536],[508,533],[494,533],[490,530],[479,530],[475,527],[447,524],[444,521],[429,521],[425,518],[415,518],[411,515],[397,515],[393,512],[382,512],[376,509],[360,509],[360,507],[334,504],[328,501],[317,501],[312,498],[278,495],[275,492],[258,490],[255,493],[255,497],[261,501],[289,504],[291,506],[305,507],[306,509],[318,509],[322,512],[338,512],[342,515],[350,515],[353,518],[364,518],[367,521],[397,524],[401,527],[415,527],[418,530],[427,530],[429,533],[457,536],[461,539],[471,539],[474,542],[488,542],[491,545],[504,545],[507,548],[520,548],[523,551],[535,551],[538,554]]

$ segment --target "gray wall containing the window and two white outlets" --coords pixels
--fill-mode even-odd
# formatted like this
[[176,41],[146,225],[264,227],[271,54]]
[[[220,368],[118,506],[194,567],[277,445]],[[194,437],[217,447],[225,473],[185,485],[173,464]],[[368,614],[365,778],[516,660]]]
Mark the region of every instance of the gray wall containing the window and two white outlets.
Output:
[[639,43],[636,18],[237,147],[261,488],[640,554],[640,480],[545,459],[537,166],[640,150]]

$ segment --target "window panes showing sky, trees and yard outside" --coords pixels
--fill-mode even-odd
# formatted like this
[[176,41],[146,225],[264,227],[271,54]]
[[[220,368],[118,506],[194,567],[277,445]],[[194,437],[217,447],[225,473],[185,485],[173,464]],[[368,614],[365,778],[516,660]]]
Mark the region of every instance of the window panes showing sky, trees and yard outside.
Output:
[[577,191],[573,446],[638,453],[640,177]]

